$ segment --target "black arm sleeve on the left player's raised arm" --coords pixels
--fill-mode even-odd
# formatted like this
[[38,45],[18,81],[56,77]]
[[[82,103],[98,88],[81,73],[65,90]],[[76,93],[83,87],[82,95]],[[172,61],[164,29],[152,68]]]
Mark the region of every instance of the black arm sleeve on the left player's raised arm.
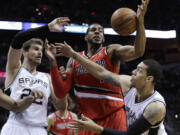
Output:
[[50,31],[48,25],[20,31],[14,36],[11,42],[11,46],[14,49],[21,49],[25,41],[35,37],[45,39],[49,32]]

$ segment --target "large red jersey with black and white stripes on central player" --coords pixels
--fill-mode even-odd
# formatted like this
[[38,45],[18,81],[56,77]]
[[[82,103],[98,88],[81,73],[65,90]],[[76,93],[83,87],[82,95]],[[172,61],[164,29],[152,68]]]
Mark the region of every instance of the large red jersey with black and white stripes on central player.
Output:
[[[92,57],[87,57],[84,51],[80,52],[80,55],[118,74],[119,69],[112,65],[106,49],[103,47]],[[101,119],[124,106],[122,91],[119,87],[96,79],[77,61],[73,63],[72,76],[78,114],[83,113],[93,120]]]

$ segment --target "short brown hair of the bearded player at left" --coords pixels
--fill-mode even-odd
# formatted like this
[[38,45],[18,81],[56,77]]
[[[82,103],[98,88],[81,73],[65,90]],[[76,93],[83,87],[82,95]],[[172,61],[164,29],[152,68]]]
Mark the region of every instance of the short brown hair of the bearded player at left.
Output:
[[23,50],[28,51],[32,44],[39,44],[43,46],[44,42],[39,38],[31,38],[23,43]]

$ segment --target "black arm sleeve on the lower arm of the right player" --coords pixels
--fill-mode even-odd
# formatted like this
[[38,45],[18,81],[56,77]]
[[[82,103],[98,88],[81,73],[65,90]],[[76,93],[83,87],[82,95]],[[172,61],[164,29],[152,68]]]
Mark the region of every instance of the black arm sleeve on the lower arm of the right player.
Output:
[[143,115],[129,126],[127,131],[113,130],[104,128],[101,135],[140,135],[150,129],[152,125],[144,118]]

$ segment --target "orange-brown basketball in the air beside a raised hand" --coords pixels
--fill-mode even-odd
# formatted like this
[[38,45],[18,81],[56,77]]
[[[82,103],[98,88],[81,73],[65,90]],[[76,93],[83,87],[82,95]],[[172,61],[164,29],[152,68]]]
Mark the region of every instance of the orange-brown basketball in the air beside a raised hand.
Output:
[[121,36],[136,30],[136,12],[130,8],[119,8],[111,16],[111,27]]

